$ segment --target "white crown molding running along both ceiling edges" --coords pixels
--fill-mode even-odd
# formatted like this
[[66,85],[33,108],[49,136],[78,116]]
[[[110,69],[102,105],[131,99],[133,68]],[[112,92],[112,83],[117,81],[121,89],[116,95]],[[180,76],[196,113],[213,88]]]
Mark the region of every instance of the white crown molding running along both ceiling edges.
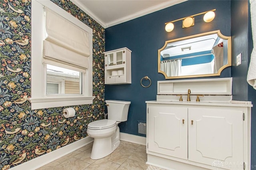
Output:
[[90,11],[86,6],[84,6],[83,4],[78,2],[77,0],[70,0],[70,1],[73,2],[76,6],[78,6],[81,10],[83,10],[90,17],[92,17],[103,28],[108,28],[108,27],[115,26],[117,24],[121,24],[121,23],[129,21],[129,20],[133,20],[135,18],[144,16],[144,15],[147,15],[147,14],[150,14],[152,12],[156,12],[158,10],[162,10],[164,8],[168,8],[169,6],[180,4],[180,3],[185,2],[187,0],[170,0],[170,1],[164,2],[162,4],[158,4],[156,6],[152,6],[150,8],[145,9],[145,10],[141,10],[139,12],[136,12],[136,13],[132,14],[132,15],[129,15],[129,16],[126,16],[126,17],[123,17],[123,18],[120,18],[118,20],[114,20],[114,21],[108,22],[108,23],[103,22],[100,18],[95,16],[95,14],[92,11]]

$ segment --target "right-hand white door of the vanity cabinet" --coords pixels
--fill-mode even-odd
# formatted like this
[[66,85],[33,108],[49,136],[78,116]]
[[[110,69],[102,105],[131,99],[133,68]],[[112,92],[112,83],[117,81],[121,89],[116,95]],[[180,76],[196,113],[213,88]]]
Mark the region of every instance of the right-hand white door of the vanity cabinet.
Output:
[[189,108],[188,121],[188,160],[243,170],[242,110]]

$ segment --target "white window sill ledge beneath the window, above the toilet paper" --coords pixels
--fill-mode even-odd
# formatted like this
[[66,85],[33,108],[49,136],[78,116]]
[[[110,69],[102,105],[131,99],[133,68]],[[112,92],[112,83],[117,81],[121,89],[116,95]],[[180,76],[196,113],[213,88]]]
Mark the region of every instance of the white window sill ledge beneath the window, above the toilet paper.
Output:
[[87,105],[92,104],[95,97],[49,97],[34,99],[30,98],[31,110],[34,109],[46,109],[51,107],[64,107],[74,105]]

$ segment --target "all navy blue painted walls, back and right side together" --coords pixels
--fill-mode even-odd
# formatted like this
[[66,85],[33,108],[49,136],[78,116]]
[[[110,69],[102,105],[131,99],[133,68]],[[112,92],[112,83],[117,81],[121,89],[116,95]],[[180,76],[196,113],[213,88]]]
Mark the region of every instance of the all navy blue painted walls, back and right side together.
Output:
[[[247,0],[189,0],[107,28],[106,51],[121,47],[132,50],[132,84],[105,86],[105,99],[131,101],[128,121],[120,123],[120,131],[140,135],[137,133],[137,121],[146,121],[145,101],[156,99],[157,81],[165,80],[164,75],[158,73],[158,49],[166,40],[203,32],[220,30],[223,35],[232,36],[232,67],[224,69],[220,76],[204,78],[233,77],[233,99],[256,103],[256,91],[246,82],[252,52],[249,8]],[[203,16],[197,16],[195,26],[182,29],[182,22],[175,22],[172,32],[164,30],[165,22],[212,9],[216,9],[216,17],[210,23],[202,22]],[[242,53],[242,65],[236,67],[236,55],[239,53]],[[148,88],[140,85],[144,76],[152,80],[152,85]],[[252,108],[251,169],[256,169],[256,125],[253,123],[256,121],[255,113],[256,108]]]

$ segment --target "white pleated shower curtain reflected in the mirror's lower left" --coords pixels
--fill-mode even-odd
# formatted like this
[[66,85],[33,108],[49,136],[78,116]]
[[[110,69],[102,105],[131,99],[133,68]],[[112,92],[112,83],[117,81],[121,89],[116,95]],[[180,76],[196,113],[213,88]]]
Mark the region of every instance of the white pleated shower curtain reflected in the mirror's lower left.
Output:
[[161,71],[164,71],[167,77],[180,76],[181,62],[182,62],[182,59],[161,61],[160,63]]

